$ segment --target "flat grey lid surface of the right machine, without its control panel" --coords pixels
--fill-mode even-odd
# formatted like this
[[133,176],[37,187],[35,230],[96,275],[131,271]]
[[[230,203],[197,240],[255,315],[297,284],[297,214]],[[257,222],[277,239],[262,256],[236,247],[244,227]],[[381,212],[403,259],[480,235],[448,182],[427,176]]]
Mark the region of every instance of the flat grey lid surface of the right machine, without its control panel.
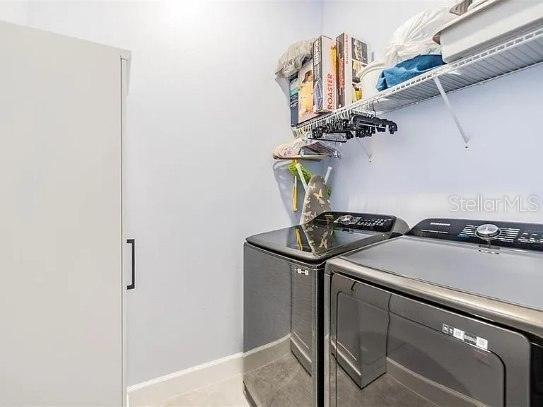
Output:
[[402,236],[343,257],[403,277],[543,310],[543,253]]

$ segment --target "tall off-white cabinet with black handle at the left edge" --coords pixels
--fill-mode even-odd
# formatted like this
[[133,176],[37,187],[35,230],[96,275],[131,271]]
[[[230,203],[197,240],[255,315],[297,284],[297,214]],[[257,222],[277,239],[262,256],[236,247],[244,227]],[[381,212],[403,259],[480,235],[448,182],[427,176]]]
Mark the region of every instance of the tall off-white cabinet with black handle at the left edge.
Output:
[[0,23],[0,55],[0,406],[121,405],[126,52]]

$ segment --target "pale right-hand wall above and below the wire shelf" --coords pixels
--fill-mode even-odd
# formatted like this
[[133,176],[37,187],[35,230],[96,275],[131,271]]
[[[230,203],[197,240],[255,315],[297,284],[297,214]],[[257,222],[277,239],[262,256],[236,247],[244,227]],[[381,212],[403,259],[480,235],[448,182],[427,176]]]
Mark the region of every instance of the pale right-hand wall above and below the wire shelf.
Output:
[[[323,33],[342,31],[365,38],[377,55],[394,28],[424,7],[446,1],[327,2]],[[389,114],[398,123],[394,136],[365,139],[373,150],[368,162],[359,141],[342,146],[344,157],[333,173],[338,210],[396,214],[410,225],[432,216],[542,222],[543,211],[454,212],[451,196],[501,200],[543,197],[543,67],[535,67],[450,96],[472,137],[465,150],[440,98]]]

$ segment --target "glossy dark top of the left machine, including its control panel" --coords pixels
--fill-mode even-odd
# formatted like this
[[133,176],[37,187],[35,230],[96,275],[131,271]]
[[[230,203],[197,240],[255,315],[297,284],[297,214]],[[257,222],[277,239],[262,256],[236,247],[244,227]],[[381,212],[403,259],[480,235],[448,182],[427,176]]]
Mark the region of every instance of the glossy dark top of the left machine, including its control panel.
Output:
[[308,263],[387,239],[407,231],[394,216],[351,212],[325,212],[304,225],[250,236],[247,242]]

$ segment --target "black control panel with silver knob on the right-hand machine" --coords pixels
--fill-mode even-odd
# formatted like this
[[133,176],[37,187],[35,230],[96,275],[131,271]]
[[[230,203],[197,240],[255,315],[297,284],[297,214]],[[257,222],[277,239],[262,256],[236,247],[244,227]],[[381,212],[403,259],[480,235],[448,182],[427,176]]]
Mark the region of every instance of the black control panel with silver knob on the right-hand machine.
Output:
[[543,251],[543,225],[537,223],[434,218],[423,220],[407,234]]

